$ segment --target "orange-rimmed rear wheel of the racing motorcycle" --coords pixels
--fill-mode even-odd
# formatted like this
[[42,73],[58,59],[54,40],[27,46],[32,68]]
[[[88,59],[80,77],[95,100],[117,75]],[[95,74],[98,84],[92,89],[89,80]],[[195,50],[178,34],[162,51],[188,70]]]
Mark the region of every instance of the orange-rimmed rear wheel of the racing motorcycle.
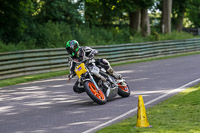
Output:
[[125,86],[122,86],[122,83],[118,83],[118,94],[121,97],[128,97],[130,95],[130,89],[128,84],[125,82]]

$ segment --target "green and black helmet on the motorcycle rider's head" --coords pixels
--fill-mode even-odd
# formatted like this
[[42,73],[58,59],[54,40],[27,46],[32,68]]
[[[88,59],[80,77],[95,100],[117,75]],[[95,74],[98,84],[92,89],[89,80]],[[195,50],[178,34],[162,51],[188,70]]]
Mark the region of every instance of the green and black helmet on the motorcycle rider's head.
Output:
[[76,40],[69,40],[66,43],[66,50],[71,56],[77,56],[79,51],[79,43]]

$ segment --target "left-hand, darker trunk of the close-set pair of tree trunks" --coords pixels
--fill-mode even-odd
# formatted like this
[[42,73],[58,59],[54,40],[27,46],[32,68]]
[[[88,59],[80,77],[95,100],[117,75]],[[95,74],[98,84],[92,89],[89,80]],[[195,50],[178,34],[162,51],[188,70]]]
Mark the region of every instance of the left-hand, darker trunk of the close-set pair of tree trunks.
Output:
[[140,10],[137,10],[136,12],[129,13],[130,18],[130,31],[131,33],[136,33],[140,31],[140,18],[141,13]]

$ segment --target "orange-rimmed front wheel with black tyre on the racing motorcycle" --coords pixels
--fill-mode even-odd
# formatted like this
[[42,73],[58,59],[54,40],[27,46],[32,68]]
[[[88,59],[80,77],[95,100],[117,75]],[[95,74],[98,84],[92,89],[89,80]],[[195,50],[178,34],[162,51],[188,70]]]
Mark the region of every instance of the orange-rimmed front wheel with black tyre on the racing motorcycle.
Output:
[[84,83],[85,91],[88,96],[98,104],[105,104],[107,102],[107,98],[102,90],[97,90],[95,85],[91,81],[86,81]]

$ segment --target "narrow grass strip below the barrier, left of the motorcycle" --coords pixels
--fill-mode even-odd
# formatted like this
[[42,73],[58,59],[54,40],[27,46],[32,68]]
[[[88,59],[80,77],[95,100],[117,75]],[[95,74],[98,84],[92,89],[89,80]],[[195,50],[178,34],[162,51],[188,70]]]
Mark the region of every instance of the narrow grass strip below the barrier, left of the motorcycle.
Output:
[[58,71],[58,72],[42,73],[42,74],[35,74],[35,75],[28,75],[28,76],[22,76],[22,77],[11,78],[11,79],[5,79],[5,80],[0,80],[0,87],[9,86],[9,85],[16,85],[16,84],[19,84],[19,83],[25,83],[25,82],[30,82],[30,81],[40,80],[40,79],[46,79],[46,78],[51,78],[51,77],[56,77],[56,76],[62,76],[62,75],[66,75],[66,74],[69,74],[68,70]]

